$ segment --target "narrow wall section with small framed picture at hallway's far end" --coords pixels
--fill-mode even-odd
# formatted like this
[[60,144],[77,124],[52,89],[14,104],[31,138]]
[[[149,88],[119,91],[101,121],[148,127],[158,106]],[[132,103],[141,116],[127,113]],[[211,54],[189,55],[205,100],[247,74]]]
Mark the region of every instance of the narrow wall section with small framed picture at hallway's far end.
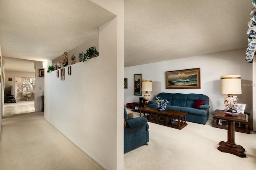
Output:
[[42,96],[44,96],[44,77],[39,77],[39,69],[44,69],[43,62],[36,61],[34,68],[36,70],[35,111],[40,111],[42,110]]

